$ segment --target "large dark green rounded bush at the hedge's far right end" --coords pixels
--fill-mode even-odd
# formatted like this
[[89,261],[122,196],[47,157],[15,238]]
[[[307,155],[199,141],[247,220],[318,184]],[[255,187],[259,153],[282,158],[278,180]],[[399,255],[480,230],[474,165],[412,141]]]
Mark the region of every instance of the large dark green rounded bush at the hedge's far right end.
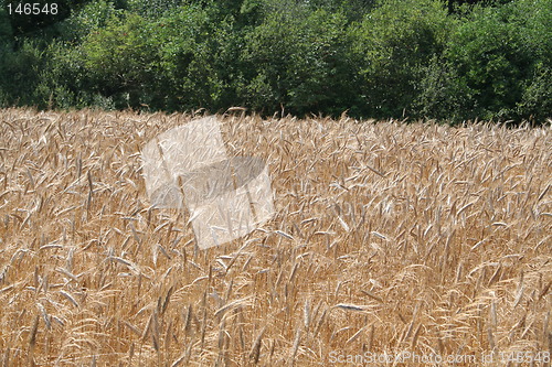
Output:
[[[551,10],[545,0],[478,8],[453,32],[443,56],[456,77],[443,79],[440,86],[445,94],[465,90],[467,97],[453,114],[484,119],[550,116],[545,80],[550,80],[552,28],[546,9]],[[425,91],[422,100],[431,94]],[[426,105],[426,111],[435,110]]]

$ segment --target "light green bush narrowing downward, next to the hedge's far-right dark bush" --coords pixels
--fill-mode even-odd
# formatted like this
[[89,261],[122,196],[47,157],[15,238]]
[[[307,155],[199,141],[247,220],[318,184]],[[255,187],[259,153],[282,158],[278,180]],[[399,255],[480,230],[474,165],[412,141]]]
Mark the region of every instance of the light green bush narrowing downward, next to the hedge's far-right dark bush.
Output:
[[437,0],[388,0],[353,30],[365,111],[412,114],[424,67],[444,48],[452,25]]

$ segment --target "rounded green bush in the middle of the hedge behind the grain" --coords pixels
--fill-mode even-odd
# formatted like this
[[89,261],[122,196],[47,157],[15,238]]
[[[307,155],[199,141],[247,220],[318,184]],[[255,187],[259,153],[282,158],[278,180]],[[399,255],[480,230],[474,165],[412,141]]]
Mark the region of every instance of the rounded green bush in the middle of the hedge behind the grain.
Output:
[[[297,10],[297,9],[296,9]],[[246,35],[240,96],[254,109],[293,114],[343,110],[353,78],[341,13],[273,13]]]

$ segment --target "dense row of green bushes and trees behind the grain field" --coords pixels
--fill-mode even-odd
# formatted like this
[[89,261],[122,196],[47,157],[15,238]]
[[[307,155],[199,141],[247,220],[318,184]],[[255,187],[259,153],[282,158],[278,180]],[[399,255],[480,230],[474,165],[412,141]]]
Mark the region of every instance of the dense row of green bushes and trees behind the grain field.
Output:
[[[552,3],[88,0],[0,10],[0,105],[544,121]],[[448,8],[447,8],[448,6]],[[68,7],[68,6],[67,6]]]

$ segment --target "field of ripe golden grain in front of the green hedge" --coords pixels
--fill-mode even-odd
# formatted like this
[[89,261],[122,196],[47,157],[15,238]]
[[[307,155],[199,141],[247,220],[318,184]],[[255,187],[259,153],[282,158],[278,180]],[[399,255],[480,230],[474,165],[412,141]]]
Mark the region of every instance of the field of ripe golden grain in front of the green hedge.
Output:
[[223,117],[277,214],[198,251],[140,172],[190,118],[0,111],[0,366],[551,352],[550,126]]

